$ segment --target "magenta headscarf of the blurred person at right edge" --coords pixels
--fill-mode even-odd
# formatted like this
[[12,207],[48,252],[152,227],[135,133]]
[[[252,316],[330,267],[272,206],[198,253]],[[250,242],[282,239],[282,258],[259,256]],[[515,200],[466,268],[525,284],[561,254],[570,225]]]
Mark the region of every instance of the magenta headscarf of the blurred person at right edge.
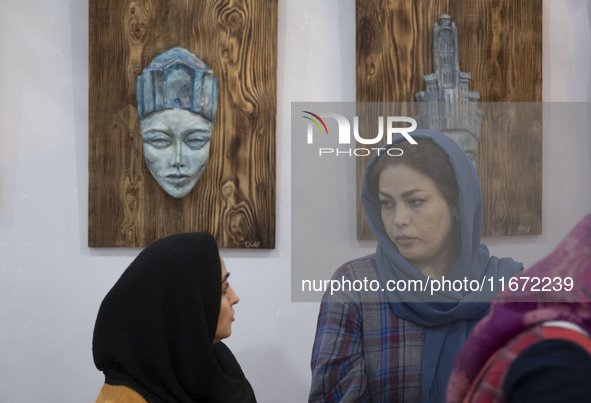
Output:
[[[447,386],[447,402],[461,402],[481,368],[499,348],[534,325],[564,320],[591,333],[591,214],[556,249],[530,270],[518,274],[517,290],[500,292],[490,312],[458,353]],[[527,277],[528,279],[522,279]],[[572,278],[571,291],[534,291],[534,278]],[[540,283],[537,289],[542,289]],[[557,283],[553,282],[552,285]],[[515,285],[515,284],[514,284]]]

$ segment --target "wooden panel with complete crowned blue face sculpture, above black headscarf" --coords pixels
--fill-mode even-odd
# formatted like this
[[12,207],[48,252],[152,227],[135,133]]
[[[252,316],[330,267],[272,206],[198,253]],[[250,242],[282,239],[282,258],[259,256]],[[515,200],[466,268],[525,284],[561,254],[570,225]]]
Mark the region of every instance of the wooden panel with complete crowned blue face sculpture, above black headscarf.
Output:
[[274,248],[277,1],[89,4],[89,246]]

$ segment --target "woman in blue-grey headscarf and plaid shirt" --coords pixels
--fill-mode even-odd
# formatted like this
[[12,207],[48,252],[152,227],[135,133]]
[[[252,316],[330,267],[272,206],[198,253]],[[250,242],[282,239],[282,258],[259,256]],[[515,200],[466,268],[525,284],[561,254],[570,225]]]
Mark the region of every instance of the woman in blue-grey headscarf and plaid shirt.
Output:
[[[522,265],[480,244],[482,196],[472,162],[445,135],[398,135],[369,163],[361,201],[378,241],[335,280],[379,281],[377,292],[325,293],[312,351],[310,402],[441,402],[456,353],[491,290],[408,291],[412,282],[511,277]],[[403,151],[402,156],[396,156]],[[496,280],[495,280],[496,281]],[[439,283],[441,284],[441,283]],[[389,291],[399,285],[406,290]]]

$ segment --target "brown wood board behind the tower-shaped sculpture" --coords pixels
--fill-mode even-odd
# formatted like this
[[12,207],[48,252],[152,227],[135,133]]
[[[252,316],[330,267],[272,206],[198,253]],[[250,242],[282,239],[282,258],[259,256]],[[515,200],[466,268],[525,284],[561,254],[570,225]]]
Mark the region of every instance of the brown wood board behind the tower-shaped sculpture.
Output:
[[[433,72],[433,24],[458,29],[461,71],[480,102],[542,101],[542,0],[357,0],[358,102],[412,102]],[[542,230],[542,114],[493,108],[482,124],[479,176],[484,236]],[[511,109],[511,108],[508,108]],[[358,159],[361,185],[367,160]],[[357,237],[371,239],[361,203]]]

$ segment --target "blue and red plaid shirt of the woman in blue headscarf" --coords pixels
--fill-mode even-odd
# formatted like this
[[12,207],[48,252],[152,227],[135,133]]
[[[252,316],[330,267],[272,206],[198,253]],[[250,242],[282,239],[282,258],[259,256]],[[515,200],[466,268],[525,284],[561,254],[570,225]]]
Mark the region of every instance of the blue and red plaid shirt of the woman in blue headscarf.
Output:
[[[375,256],[344,264],[332,278],[378,280]],[[421,326],[394,316],[383,292],[326,292],[309,401],[420,402],[424,338]]]

